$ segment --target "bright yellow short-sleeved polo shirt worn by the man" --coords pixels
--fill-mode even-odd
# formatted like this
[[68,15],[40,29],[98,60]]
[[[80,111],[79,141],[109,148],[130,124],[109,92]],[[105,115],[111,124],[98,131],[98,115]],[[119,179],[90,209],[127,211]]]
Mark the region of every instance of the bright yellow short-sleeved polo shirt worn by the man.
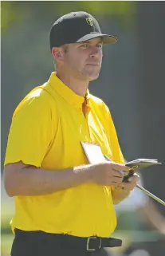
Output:
[[[102,100],[73,93],[52,73],[16,108],[6,148],[6,163],[23,163],[61,171],[88,163],[81,141],[100,144],[104,155],[124,163],[108,107]],[[108,237],[116,228],[112,187],[95,183],[49,195],[15,196],[12,229],[43,230],[81,237]]]

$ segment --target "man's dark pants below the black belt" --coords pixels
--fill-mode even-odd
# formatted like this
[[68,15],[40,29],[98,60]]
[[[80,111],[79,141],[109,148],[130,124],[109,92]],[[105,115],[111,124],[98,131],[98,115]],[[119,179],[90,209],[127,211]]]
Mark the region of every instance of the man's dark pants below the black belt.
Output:
[[86,250],[84,244],[70,242],[65,234],[16,230],[11,256],[108,256],[104,248]]

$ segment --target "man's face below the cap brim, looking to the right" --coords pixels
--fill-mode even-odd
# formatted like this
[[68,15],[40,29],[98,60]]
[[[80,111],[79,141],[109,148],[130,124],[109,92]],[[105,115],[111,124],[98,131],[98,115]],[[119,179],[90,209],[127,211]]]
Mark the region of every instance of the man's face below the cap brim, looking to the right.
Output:
[[67,45],[62,65],[73,77],[92,81],[99,77],[102,57],[102,42],[100,38],[94,38]]

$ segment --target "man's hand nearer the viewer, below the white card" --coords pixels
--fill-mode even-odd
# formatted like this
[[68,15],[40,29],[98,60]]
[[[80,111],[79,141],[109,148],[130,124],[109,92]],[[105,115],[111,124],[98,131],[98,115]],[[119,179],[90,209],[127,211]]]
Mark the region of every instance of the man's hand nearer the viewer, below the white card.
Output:
[[128,171],[128,167],[124,164],[114,162],[92,164],[89,169],[90,182],[105,186],[117,186],[123,180],[120,171]]

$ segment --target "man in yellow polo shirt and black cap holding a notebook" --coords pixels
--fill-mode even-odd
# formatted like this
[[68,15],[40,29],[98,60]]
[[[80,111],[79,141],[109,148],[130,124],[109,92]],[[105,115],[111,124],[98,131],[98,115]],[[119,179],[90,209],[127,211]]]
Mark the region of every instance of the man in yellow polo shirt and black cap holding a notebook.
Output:
[[15,202],[12,256],[87,256],[119,246],[109,238],[114,204],[139,177],[122,183],[120,171],[128,167],[111,114],[88,91],[99,77],[102,46],[115,42],[85,12],[66,14],[51,28],[57,72],[18,104],[6,148],[5,187]]

